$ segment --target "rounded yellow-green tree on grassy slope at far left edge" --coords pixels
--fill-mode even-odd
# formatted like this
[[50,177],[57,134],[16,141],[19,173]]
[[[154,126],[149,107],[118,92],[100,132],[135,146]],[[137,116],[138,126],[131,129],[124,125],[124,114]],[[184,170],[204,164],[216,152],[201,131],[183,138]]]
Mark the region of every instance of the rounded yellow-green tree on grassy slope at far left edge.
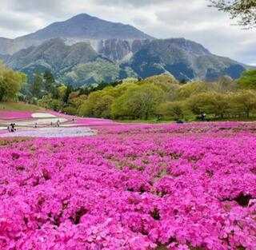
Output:
[[0,101],[12,101],[18,97],[22,84],[26,82],[24,73],[6,69],[0,62]]

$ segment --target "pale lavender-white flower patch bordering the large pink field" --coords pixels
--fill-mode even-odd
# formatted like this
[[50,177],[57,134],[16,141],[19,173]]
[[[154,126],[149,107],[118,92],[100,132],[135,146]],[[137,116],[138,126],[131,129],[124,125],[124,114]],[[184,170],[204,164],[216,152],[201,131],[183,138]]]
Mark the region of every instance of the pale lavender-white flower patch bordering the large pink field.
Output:
[[17,130],[14,133],[2,133],[0,137],[87,137],[96,134],[94,130],[86,127],[80,128],[42,128],[30,130]]

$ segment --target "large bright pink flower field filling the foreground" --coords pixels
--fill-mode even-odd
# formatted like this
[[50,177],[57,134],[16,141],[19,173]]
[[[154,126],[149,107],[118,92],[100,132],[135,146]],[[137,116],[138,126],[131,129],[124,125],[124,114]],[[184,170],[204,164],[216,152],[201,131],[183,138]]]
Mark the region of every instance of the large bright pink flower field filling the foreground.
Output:
[[256,124],[0,139],[0,249],[255,250]]

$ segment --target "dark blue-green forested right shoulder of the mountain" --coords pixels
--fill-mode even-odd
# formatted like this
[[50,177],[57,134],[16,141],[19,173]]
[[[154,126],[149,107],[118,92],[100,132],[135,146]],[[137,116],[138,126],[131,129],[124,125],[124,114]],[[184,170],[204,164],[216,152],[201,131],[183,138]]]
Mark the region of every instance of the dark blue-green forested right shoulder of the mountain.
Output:
[[228,75],[240,77],[248,66],[211,54],[202,45],[184,38],[154,40],[134,54],[131,68],[140,77],[171,73],[178,80],[214,80]]

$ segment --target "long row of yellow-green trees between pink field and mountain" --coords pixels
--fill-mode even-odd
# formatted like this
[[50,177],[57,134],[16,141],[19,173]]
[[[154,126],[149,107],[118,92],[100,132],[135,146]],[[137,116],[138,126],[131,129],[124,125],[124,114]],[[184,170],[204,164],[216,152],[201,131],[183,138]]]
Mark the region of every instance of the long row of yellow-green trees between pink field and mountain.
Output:
[[213,119],[249,118],[256,112],[255,89],[255,69],[242,73],[238,81],[220,77],[214,82],[181,84],[173,76],[163,74],[81,89],[60,85],[55,98],[53,93],[47,93],[39,104],[83,117],[121,120],[186,118],[202,112]]

